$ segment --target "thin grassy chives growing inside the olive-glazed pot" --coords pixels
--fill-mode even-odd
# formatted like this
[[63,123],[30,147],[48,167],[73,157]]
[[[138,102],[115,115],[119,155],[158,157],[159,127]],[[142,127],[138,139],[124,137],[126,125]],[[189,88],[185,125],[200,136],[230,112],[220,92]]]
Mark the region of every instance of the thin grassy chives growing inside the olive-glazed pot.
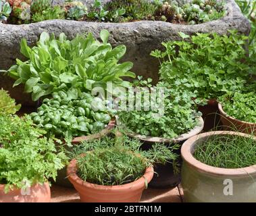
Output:
[[232,134],[213,135],[195,148],[194,157],[213,167],[249,167],[256,164],[256,139]]

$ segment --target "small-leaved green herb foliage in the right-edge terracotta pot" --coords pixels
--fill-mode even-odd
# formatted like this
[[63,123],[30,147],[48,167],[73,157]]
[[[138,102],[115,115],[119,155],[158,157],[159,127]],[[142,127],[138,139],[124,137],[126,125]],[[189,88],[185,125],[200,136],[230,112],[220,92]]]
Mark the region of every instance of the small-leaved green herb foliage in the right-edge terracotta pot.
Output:
[[234,92],[224,94],[218,99],[223,110],[240,121],[256,123],[256,94],[255,92]]

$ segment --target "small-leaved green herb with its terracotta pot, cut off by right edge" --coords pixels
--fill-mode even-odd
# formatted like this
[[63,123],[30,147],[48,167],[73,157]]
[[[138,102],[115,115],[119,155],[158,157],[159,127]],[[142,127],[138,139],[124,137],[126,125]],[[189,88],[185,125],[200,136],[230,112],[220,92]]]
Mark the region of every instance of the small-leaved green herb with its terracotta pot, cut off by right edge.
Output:
[[229,93],[220,97],[218,101],[224,130],[256,134],[255,92]]

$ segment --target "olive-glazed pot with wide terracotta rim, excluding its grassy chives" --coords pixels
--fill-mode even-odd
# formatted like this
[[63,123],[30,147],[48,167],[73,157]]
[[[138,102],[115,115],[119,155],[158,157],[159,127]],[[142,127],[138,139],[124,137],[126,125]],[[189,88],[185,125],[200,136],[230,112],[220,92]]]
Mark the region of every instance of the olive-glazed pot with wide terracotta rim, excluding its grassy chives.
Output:
[[240,169],[224,169],[201,163],[193,157],[195,148],[209,136],[238,132],[207,132],[193,136],[182,145],[182,188],[185,202],[255,202],[256,165]]

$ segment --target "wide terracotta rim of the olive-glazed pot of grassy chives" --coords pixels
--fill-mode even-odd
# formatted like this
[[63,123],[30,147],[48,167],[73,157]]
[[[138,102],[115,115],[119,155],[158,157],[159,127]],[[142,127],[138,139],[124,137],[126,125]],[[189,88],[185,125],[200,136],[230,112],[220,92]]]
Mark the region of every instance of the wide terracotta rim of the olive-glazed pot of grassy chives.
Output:
[[[199,134],[199,135],[193,136],[192,138],[184,142],[181,148],[182,159],[186,161],[186,163],[188,163],[188,165],[190,165],[191,167],[194,167],[195,169],[198,169],[201,172],[210,173],[212,175],[232,175],[234,177],[240,177],[244,175],[255,174],[256,165],[251,165],[249,167],[236,168],[236,169],[220,168],[220,167],[213,167],[210,165],[206,165],[205,163],[202,163],[201,161],[198,161],[197,159],[195,159],[195,157],[193,157],[193,154],[191,152],[193,151],[195,142],[197,140],[206,138],[208,136],[220,135],[220,134],[231,134],[231,135],[251,137],[250,134],[244,134],[240,132],[230,132],[230,131],[213,131],[213,132]],[[253,136],[253,138],[255,138],[256,140],[255,136]]]

